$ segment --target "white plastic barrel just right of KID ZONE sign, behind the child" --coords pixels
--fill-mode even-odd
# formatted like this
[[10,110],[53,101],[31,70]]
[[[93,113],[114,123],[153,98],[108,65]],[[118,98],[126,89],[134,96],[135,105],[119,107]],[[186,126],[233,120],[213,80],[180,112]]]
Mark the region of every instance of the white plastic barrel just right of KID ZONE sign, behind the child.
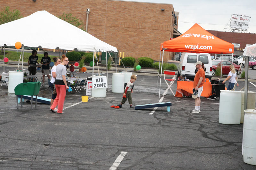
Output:
[[112,75],[112,92],[123,93],[124,92],[124,74],[113,73]]

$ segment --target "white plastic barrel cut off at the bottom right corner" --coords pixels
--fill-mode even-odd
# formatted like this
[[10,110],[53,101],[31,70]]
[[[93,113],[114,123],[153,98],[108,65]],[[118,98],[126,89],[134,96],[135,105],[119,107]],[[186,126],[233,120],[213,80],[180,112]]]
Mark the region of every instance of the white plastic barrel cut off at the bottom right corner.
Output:
[[244,163],[256,165],[256,110],[244,110]]

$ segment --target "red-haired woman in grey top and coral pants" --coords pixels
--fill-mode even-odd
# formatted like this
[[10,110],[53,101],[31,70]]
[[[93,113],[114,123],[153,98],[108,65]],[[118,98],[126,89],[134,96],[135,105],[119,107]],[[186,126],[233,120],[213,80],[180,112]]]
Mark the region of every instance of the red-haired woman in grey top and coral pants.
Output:
[[65,65],[68,64],[68,57],[66,55],[61,56],[61,63],[56,67],[56,79],[55,79],[55,88],[57,91],[56,99],[54,100],[50,110],[55,113],[54,108],[58,105],[57,113],[64,113],[63,106],[64,100],[66,97],[66,89],[68,89],[67,81],[66,81],[66,74],[67,68]]

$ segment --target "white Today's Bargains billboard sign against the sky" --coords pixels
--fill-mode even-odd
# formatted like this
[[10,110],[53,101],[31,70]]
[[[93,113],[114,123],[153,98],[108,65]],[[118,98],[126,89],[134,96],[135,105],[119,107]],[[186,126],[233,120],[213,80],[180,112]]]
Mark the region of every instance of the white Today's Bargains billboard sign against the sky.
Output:
[[242,30],[249,28],[250,17],[244,15],[231,15],[230,27]]

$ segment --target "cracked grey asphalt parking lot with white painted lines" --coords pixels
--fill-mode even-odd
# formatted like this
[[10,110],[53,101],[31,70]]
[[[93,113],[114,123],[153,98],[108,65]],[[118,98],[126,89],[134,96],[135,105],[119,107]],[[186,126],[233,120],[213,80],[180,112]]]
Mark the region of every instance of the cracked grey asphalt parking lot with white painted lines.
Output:
[[[111,75],[105,98],[89,97],[88,102],[81,102],[84,90],[67,93],[64,114],[52,113],[49,105],[41,103],[33,110],[26,102],[17,109],[15,95],[3,85],[1,169],[256,168],[243,162],[243,124],[219,123],[218,100],[201,98],[201,113],[191,114],[194,99],[177,98],[170,92],[159,98],[157,77],[138,75],[132,93],[134,105],[171,101],[171,112],[166,107],[130,109],[128,101],[115,109],[110,106],[119,104],[122,94],[111,92]],[[256,91],[253,84],[249,83],[249,89]],[[239,85],[236,90],[244,82]],[[50,99],[47,87],[41,87],[38,96]],[[163,79],[161,87],[162,94],[167,88]],[[174,93],[176,87],[175,82]]]

